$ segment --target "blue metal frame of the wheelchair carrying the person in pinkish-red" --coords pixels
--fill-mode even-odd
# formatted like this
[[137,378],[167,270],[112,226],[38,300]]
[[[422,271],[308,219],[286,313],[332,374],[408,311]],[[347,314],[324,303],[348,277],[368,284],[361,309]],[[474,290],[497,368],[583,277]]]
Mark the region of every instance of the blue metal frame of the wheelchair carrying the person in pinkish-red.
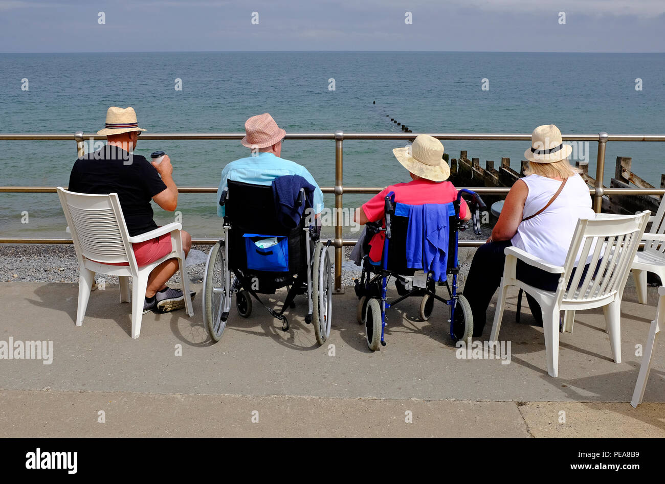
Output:
[[[487,209],[485,206],[485,203],[483,203],[483,200],[481,197],[475,193],[475,191],[471,191],[468,189],[460,189],[458,191],[458,196],[455,201],[453,201],[453,205],[455,208],[455,249],[454,249],[454,267],[450,269],[450,271],[446,271],[446,273],[452,273],[452,288],[448,285],[448,281],[446,281],[445,285],[448,288],[448,293],[450,294],[450,299],[444,299],[442,297],[439,297],[438,295],[434,293],[428,293],[430,296],[434,297],[434,299],[437,299],[438,301],[444,302],[445,304],[448,304],[450,306],[450,337],[452,340],[456,341],[456,336],[454,334],[454,318],[455,318],[455,309],[457,306],[457,301],[458,301],[458,294],[457,294],[457,279],[458,279],[458,273],[460,272],[460,266],[459,266],[459,261],[458,261],[458,243],[459,243],[459,235],[460,231],[466,230],[466,224],[460,223],[460,205],[461,201],[463,199],[462,195],[464,193],[467,193],[467,195],[471,196],[471,201],[469,201],[469,210],[471,210],[471,222],[473,225],[473,231],[477,234],[481,234],[481,229],[480,229],[480,217],[479,217],[479,211],[483,209]],[[398,297],[398,299],[388,302],[388,299],[386,297],[387,293],[387,287],[388,287],[388,277],[390,277],[392,272],[388,270],[388,245],[390,242],[390,239],[392,237],[391,233],[391,227],[390,227],[390,219],[395,213],[395,192],[391,191],[386,195],[385,197],[385,216],[386,216],[386,227],[382,228],[380,230],[383,230],[386,232],[386,238],[384,240],[384,247],[383,247],[383,254],[382,254],[382,259],[381,259],[381,268],[382,271],[380,274],[376,275],[373,278],[370,278],[368,275],[368,281],[365,283],[365,288],[368,289],[370,284],[372,284],[374,281],[376,281],[377,277],[382,277],[382,284],[381,284],[381,293],[380,293],[380,300],[381,300],[381,345],[386,346],[386,342],[384,340],[384,329],[386,327],[386,309],[391,308],[392,306],[398,304],[398,302],[403,301],[407,297],[410,296],[410,293],[406,295],[402,295],[401,297]],[[365,262],[366,263],[366,262]],[[364,274],[363,274],[364,275]],[[428,274],[428,282],[430,281],[430,275]]]

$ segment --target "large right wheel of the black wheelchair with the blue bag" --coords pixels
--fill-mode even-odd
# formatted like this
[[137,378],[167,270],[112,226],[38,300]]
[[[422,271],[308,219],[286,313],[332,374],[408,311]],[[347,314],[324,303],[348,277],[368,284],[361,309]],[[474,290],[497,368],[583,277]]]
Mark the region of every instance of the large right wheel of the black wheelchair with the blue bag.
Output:
[[317,343],[323,344],[331,334],[332,273],[328,249],[321,241],[314,249],[312,286],[312,324]]

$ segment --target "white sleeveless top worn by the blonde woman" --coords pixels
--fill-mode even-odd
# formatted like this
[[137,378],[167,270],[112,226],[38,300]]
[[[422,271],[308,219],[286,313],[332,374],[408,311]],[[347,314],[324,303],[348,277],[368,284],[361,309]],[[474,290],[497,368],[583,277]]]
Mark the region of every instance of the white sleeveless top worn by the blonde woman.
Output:
[[[559,180],[540,175],[525,176],[521,180],[529,187],[523,218],[545,207],[561,185]],[[595,216],[589,187],[579,174],[575,174],[545,211],[519,224],[511,243],[551,264],[563,265],[577,220],[594,219]]]

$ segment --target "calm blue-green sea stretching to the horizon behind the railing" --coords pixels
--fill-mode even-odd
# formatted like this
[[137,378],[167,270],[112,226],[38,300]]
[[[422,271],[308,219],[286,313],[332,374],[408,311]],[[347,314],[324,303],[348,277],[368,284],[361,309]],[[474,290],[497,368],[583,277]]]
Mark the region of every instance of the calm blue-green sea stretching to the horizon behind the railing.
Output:
[[[180,89],[178,89],[180,87]],[[242,132],[269,112],[287,132],[665,133],[665,54],[437,52],[200,52],[0,54],[0,132],[96,132],[109,106],[132,106],[150,133]],[[386,116],[387,115],[387,116]],[[344,185],[408,181],[392,149],[404,141],[344,142]],[[511,159],[528,142],[446,141],[458,158]],[[660,186],[663,144],[610,142],[606,183],[617,156]],[[222,168],[247,156],[239,141],[139,138],[136,153],[164,150],[179,186],[216,187]],[[586,150],[586,152],[585,152]],[[595,175],[597,144],[579,147]],[[334,142],[286,140],[283,158],[334,185]],[[66,186],[74,141],[0,141],[0,185]],[[344,195],[347,208],[370,195]],[[328,207],[332,195],[326,195]],[[181,194],[178,211],[196,237],[217,237],[214,194]],[[162,225],[174,213],[155,209]],[[68,237],[55,193],[0,193],[1,237]],[[348,234],[350,227],[345,227]],[[326,229],[327,230],[327,229]],[[332,234],[332,230],[330,230]]]

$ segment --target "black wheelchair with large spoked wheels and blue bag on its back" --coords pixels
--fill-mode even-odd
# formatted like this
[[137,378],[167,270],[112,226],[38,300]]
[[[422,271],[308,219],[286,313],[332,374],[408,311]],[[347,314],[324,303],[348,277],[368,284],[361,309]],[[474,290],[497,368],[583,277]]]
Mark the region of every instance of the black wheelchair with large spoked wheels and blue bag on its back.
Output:
[[[284,315],[295,307],[295,297],[307,297],[305,322],[313,324],[321,345],[330,336],[332,319],[332,273],[328,247],[331,241],[319,240],[314,217],[306,215],[309,204],[301,189],[297,204],[305,205],[297,227],[285,227],[275,216],[275,201],[270,185],[229,180],[221,193],[225,205],[223,239],[208,254],[203,277],[203,319],[210,337],[216,342],[226,327],[235,295],[239,316],[249,318],[255,299],[275,318],[282,330],[289,330]],[[312,223],[310,223],[310,221]],[[270,247],[259,242],[271,239]],[[281,310],[263,304],[261,295],[275,294],[287,287]]]

